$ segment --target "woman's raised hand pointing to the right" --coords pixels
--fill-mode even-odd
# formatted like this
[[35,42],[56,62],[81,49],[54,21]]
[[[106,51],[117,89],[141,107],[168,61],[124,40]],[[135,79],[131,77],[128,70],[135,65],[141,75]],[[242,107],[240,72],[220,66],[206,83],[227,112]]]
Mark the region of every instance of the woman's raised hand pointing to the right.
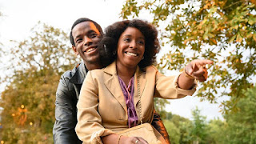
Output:
[[190,62],[186,67],[184,72],[186,73],[187,77],[195,78],[199,82],[204,82],[208,78],[208,72],[206,65],[213,64],[214,62],[208,59],[196,59]]

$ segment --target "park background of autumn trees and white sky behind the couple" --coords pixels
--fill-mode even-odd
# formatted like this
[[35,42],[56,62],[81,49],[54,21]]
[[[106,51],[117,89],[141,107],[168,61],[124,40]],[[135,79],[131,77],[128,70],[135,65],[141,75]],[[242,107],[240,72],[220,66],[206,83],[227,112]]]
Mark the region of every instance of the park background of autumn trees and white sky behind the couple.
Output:
[[254,0],[0,0],[0,142],[53,143],[60,75],[78,62],[68,34],[91,18],[102,28],[142,18],[162,42],[158,70],[178,74],[209,58],[193,97],[155,99],[172,143],[256,143]]

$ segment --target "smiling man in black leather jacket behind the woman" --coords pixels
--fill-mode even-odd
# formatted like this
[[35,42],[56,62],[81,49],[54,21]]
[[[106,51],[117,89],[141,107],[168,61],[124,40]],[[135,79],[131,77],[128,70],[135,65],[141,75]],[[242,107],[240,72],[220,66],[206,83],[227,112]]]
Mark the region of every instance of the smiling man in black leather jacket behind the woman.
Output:
[[[89,18],[79,18],[74,22],[70,32],[70,42],[74,53],[79,55],[83,62],[68,70],[60,79],[56,92],[54,143],[82,143],[74,128],[77,124],[77,102],[82,82],[88,70],[102,68],[99,61],[98,42],[103,32],[97,22]],[[154,114],[152,125],[168,138],[165,127],[158,114]]]

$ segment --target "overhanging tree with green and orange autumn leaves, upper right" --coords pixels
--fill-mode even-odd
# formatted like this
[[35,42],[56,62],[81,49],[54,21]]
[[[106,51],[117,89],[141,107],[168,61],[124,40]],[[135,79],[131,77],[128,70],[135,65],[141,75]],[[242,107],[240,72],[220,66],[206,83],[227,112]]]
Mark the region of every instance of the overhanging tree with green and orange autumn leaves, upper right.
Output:
[[160,66],[179,70],[194,58],[214,61],[210,80],[204,82],[198,97],[222,102],[223,110],[236,110],[245,97],[242,90],[254,85],[256,74],[255,0],[127,0],[122,18],[150,14],[160,31],[162,46],[171,46]]

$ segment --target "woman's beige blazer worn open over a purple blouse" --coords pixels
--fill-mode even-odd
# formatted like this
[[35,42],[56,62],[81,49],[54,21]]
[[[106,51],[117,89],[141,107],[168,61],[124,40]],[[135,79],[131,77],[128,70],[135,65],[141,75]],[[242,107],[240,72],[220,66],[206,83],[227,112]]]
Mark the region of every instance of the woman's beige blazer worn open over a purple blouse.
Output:
[[[166,77],[154,66],[147,66],[145,71],[137,67],[134,74],[134,106],[139,120],[141,111],[142,122],[152,122],[154,97],[171,99],[194,94],[196,86],[192,90],[182,90],[178,88],[177,79],[178,76]],[[82,84],[77,107],[78,124],[75,130],[84,143],[102,143],[101,136],[128,128],[126,102],[115,62],[102,70],[89,71]]]

